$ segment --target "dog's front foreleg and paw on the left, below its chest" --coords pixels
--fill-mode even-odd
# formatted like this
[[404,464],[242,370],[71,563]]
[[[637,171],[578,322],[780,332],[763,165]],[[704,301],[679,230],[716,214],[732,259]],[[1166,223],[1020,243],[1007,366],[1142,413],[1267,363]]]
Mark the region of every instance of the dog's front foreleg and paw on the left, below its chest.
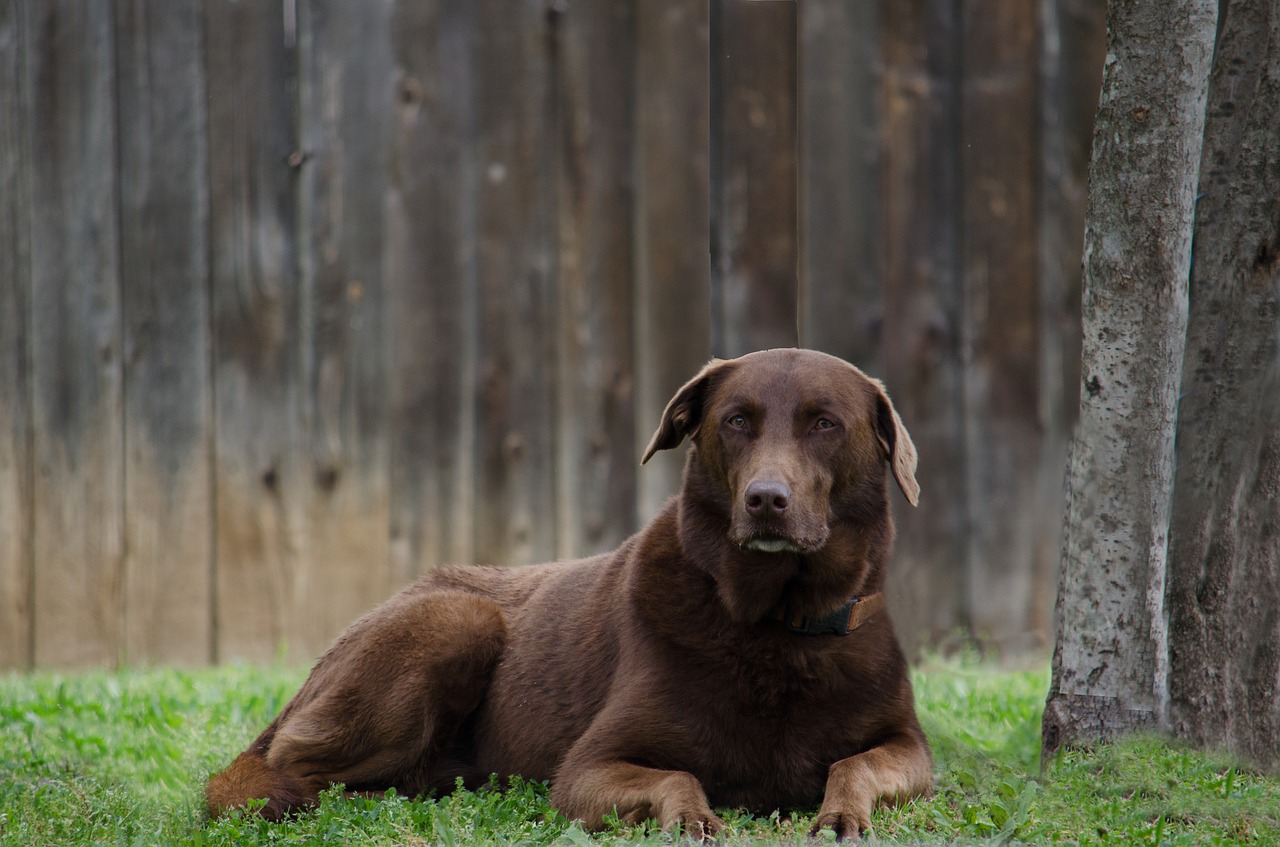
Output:
[[663,829],[681,827],[699,841],[714,838],[724,821],[712,812],[698,778],[684,770],[658,770],[625,761],[562,768],[552,786],[552,805],[589,829],[605,815],[639,824],[657,820]]

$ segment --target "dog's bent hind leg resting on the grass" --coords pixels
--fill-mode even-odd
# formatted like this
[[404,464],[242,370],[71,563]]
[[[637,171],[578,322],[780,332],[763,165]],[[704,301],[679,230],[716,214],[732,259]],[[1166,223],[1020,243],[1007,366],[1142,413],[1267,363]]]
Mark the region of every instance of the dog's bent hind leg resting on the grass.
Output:
[[278,819],[334,783],[416,795],[479,706],[506,644],[502,610],[456,591],[403,592],[352,624],[279,718],[209,780],[210,814],[266,797]]

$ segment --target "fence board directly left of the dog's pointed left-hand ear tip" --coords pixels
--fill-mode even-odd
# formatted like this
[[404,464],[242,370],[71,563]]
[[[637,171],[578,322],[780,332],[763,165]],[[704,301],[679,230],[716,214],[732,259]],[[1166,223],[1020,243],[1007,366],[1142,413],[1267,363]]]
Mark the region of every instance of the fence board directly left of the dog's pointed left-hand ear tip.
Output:
[[634,4],[549,10],[559,279],[557,508],[562,555],[635,528],[631,308]]

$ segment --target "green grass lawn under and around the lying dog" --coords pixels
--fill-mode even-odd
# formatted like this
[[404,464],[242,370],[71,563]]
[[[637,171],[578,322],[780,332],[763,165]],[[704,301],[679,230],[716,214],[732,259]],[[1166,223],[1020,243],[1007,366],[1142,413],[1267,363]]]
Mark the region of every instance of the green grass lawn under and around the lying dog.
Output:
[[[233,667],[0,677],[0,844],[672,842],[621,825],[588,834],[556,815],[536,783],[434,802],[328,795],[284,824],[210,823],[205,777],[251,741],[302,676]],[[1064,754],[1042,775],[1043,669],[931,661],[915,682],[936,793],[877,812],[873,843],[1280,843],[1280,779],[1220,756],[1139,738]],[[801,844],[813,811],[726,810],[722,841]]]

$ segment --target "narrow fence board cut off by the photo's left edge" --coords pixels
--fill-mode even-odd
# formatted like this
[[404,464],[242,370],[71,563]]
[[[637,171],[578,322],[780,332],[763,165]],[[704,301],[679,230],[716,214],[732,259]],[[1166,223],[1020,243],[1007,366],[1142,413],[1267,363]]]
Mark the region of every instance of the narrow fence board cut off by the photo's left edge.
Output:
[[17,0],[0,3],[0,668],[32,661],[31,275],[27,239],[31,119]]

